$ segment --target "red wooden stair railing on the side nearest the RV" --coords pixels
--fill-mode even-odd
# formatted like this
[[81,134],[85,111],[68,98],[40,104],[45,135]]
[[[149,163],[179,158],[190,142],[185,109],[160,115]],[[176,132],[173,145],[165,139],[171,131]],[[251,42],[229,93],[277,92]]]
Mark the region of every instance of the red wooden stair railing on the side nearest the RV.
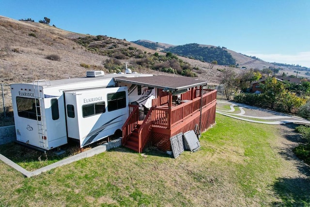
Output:
[[123,145],[127,143],[128,136],[132,133],[139,121],[139,106],[138,105],[128,105],[129,107],[129,117],[122,127],[123,131]]

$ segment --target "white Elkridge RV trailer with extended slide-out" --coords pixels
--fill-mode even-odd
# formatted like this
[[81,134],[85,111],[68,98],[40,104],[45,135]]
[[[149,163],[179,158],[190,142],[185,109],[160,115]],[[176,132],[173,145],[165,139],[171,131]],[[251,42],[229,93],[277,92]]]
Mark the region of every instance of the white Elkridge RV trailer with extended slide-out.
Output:
[[150,108],[156,96],[153,88],[114,81],[150,74],[87,74],[85,78],[12,84],[16,141],[50,150],[72,138],[84,147],[121,132],[129,115],[128,104]]

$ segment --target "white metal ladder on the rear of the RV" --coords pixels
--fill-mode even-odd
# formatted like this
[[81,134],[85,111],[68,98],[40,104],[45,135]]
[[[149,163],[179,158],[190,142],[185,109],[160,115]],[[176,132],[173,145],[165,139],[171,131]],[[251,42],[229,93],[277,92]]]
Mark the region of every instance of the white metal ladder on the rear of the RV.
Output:
[[[46,149],[47,138],[45,136],[45,128],[44,128],[44,123],[43,123],[42,104],[41,104],[41,100],[43,100],[44,95],[43,97],[41,96],[40,88],[39,88],[39,83],[43,83],[43,82],[45,83],[45,85],[47,85],[47,83],[49,83],[50,85],[50,80],[34,80],[33,91],[34,91],[34,97],[35,97],[34,103],[35,103],[35,111],[36,111],[36,117],[37,117],[39,143],[40,143],[40,147],[43,147]],[[39,100],[39,103],[37,103],[36,99]]]

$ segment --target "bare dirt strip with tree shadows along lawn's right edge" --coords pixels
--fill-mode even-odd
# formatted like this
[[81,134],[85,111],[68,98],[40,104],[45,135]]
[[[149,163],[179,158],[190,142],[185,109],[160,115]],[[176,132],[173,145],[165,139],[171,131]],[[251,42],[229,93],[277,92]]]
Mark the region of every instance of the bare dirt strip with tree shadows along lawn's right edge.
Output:
[[[298,159],[293,149],[304,140],[294,131],[296,124],[278,125],[279,137],[271,144],[275,155],[280,157],[282,166],[274,191],[282,200],[284,206],[308,206],[310,205],[310,166]],[[275,203],[282,206],[283,203]]]

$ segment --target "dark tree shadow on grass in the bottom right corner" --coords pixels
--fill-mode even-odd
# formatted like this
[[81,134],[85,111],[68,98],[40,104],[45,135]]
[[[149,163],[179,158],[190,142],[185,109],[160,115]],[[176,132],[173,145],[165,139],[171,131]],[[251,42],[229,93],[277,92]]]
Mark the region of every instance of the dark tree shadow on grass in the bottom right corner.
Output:
[[282,200],[273,206],[309,206],[310,180],[305,178],[279,178],[274,191]]

